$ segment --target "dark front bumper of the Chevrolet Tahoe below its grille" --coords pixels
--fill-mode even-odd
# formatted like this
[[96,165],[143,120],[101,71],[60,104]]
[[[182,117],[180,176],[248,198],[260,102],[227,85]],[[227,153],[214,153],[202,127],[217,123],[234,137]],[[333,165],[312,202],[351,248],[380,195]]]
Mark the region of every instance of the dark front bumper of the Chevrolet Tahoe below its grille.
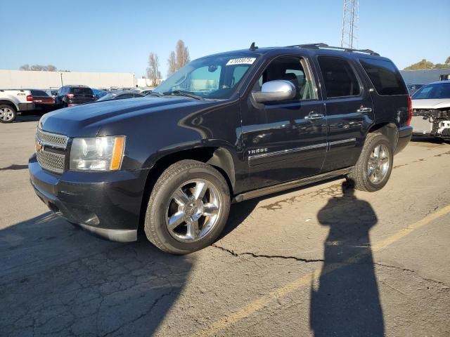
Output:
[[107,239],[137,239],[148,169],[114,172],[45,171],[33,154],[30,182],[49,209]]

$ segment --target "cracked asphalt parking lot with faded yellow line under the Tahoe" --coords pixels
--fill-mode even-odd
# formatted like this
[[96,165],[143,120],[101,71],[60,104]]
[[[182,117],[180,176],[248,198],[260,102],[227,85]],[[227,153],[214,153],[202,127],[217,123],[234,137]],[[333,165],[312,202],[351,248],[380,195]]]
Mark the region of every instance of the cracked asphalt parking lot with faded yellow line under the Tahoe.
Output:
[[449,144],[411,142],[380,192],[234,204],[213,246],[170,256],[53,216],[36,126],[0,125],[1,336],[450,336]]

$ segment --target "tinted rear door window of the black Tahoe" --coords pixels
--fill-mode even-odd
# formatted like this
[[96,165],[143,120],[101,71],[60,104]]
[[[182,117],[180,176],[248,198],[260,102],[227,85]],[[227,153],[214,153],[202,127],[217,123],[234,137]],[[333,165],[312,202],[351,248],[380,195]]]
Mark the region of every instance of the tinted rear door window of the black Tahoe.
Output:
[[319,56],[327,98],[357,96],[361,86],[349,62],[335,56]]

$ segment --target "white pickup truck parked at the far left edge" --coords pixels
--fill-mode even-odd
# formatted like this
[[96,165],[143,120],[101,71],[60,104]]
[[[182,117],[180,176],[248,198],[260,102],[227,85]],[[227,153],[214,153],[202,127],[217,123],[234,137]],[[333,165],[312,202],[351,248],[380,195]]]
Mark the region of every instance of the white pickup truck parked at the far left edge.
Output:
[[34,110],[33,95],[25,89],[0,89],[0,122],[12,123],[20,112]]

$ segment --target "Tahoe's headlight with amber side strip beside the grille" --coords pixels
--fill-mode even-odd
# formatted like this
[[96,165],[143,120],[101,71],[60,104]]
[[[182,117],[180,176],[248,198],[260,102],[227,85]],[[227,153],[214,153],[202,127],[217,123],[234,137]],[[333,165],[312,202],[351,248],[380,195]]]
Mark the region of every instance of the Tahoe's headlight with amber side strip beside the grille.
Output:
[[74,138],[70,170],[115,171],[122,165],[125,137]]

